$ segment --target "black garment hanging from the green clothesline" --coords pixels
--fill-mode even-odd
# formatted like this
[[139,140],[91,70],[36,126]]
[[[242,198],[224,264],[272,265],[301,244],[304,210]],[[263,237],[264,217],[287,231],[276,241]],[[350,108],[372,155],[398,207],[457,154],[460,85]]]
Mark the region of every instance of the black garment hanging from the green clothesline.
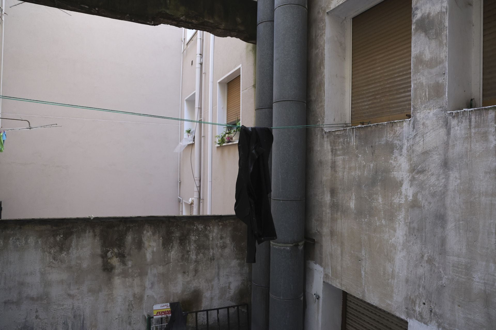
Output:
[[236,216],[247,224],[247,262],[255,262],[256,242],[276,239],[268,194],[271,192],[269,154],[274,140],[266,127],[241,127],[238,142]]

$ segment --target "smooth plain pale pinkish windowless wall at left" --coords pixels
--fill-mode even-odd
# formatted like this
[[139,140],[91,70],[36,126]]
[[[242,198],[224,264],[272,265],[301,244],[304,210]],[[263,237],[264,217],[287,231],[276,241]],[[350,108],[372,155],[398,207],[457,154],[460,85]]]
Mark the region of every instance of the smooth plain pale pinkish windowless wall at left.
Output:
[[[178,116],[181,29],[69,14],[9,8],[4,95]],[[62,125],[7,132],[3,218],[178,214],[178,122],[12,100],[2,116]]]

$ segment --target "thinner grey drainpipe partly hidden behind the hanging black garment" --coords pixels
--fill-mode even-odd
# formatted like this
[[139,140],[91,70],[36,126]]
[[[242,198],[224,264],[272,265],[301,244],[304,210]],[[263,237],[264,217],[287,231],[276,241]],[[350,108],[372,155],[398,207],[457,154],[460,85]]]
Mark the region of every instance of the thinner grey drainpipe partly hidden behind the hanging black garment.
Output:
[[[256,26],[255,126],[272,127],[274,0],[258,0]],[[269,169],[271,166],[269,157]],[[269,329],[270,242],[256,247],[251,267],[251,329]]]

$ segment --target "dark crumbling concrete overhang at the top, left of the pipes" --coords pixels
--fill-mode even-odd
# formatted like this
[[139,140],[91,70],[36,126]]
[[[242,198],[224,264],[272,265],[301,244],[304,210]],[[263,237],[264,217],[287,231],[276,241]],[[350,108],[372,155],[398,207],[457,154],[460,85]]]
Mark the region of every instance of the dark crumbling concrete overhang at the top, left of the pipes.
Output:
[[256,43],[256,10],[253,0],[28,0],[26,2],[124,21],[209,32],[217,37],[233,37]]

